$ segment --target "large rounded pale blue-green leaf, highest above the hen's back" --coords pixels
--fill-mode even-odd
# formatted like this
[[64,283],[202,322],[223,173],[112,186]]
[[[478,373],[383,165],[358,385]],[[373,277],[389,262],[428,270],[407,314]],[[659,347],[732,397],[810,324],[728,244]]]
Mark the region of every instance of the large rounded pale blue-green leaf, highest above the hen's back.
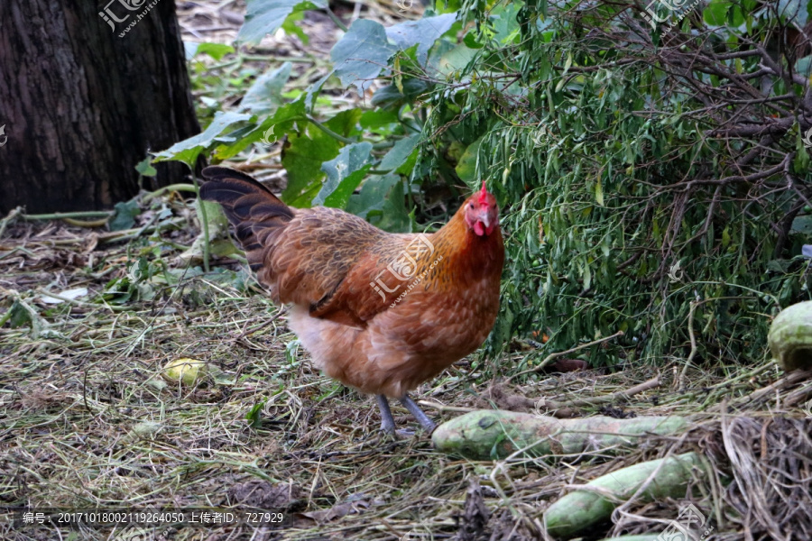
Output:
[[356,19],[330,51],[335,73],[344,87],[354,85],[360,94],[386,68],[396,48],[386,40],[381,23]]

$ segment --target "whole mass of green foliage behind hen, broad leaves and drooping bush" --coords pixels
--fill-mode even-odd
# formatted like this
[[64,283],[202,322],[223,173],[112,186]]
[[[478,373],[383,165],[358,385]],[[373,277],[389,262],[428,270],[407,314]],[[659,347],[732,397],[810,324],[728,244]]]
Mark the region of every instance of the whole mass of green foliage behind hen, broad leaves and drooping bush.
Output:
[[[286,202],[390,231],[445,221],[463,184],[488,179],[509,235],[492,353],[622,330],[593,363],[761,358],[770,314],[808,297],[812,3],[683,4],[466,0],[388,28],[359,19],[310,87],[284,92],[291,65],[272,66],[158,159],[277,141]],[[249,0],[241,38],[324,7]],[[377,89],[336,112],[336,84]]]

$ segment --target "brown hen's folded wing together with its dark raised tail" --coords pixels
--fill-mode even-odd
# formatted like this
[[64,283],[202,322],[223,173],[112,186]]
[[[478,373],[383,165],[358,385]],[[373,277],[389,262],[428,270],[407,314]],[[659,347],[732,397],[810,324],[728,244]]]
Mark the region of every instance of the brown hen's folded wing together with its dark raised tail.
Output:
[[[336,208],[295,209],[235,170],[208,167],[200,197],[223,206],[251,269],[277,302],[314,317],[365,326],[392,303],[398,284],[383,272],[414,237],[388,234]],[[383,275],[382,275],[383,272]]]

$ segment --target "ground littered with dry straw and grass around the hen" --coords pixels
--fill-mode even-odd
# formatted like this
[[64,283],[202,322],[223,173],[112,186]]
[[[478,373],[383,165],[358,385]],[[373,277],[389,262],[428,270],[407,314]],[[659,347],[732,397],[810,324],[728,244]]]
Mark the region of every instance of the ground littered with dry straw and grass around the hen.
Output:
[[[355,6],[391,16],[384,4]],[[184,39],[230,41],[241,9],[179,3]],[[357,16],[353,5],[337,13]],[[310,47],[324,54],[331,39]],[[399,406],[396,423],[415,436],[381,436],[374,399],[311,366],[239,258],[204,272],[181,256],[199,232],[189,193],[138,203],[132,227],[118,232],[22,213],[0,219],[3,539],[551,538],[544,511],[573,485],[688,451],[713,472],[697,481],[701,491],[633,500],[585,538],[656,537],[687,502],[708,517],[709,539],[812,538],[808,374],[785,375],[766,354],[757,366],[713,370],[675,356],[665,368],[553,371],[499,385],[538,355],[532,343],[516,344],[500,359],[457,362],[414,397],[438,422],[479,408],[534,411],[543,398],[574,417],[677,415],[691,429],[613,455],[440,453]],[[208,371],[192,385],[169,382],[163,368],[179,358]],[[20,506],[267,514],[262,525],[55,528],[21,524],[8,509]]]

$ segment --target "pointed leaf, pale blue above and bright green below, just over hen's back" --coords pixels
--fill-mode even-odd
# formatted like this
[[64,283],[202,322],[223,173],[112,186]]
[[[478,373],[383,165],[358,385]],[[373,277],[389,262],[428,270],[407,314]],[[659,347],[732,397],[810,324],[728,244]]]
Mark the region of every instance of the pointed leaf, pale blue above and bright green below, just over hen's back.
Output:
[[371,152],[371,142],[358,142],[341,149],[335,160],[324,162],[321,170],[327,173],[327,180],[318,195],[313,198],[313,205],[344,208],[350,195],[361,184],[366,171],[371,167]]

